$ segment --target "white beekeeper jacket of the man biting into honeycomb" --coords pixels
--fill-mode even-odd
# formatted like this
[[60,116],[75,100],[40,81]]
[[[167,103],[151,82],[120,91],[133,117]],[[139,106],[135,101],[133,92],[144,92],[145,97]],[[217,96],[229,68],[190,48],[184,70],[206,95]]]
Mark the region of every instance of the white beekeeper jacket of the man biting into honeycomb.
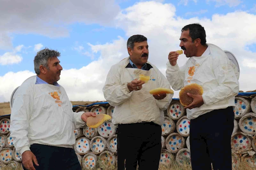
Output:
[[215,109],[235,106],[235,96],[239,92],[239,73],[226,53],[213,44],[200,57],[190,57],[179,67],[167,62],[166,77],[174,90],[191,83],[203,87],[204,104],[201,107],[186,109],[188,119],[195,119],[200,115]]

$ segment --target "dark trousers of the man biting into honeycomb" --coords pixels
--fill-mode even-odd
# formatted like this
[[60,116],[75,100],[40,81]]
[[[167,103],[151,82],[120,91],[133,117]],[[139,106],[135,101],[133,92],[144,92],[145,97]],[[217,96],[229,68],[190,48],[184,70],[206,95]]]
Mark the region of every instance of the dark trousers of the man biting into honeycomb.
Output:
[[190,121],[190,152],[193,170],[232,170],[231,135],[233,107],[213,110]]

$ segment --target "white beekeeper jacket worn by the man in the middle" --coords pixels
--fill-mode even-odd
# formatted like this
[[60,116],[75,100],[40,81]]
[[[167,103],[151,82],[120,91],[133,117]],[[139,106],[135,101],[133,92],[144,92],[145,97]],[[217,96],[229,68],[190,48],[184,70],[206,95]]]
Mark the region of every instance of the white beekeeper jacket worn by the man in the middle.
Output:
[[[167,94],[164,99],[156,100],[149,91],[158,87],[171,89],[171,86],[153,64],[147,62],[146,70],[141,70],[132,68],[129,59],[130,57],[127,57],[110,68],[103,87],[105,99],[115,107],[112,122],[114,124],[154,122],[162,125],[163,110],[170,105],[173,94]],[[142,85],[142,89],[130,92],[127,84],[139,78],[140,74],[149,76],[150,80]]]

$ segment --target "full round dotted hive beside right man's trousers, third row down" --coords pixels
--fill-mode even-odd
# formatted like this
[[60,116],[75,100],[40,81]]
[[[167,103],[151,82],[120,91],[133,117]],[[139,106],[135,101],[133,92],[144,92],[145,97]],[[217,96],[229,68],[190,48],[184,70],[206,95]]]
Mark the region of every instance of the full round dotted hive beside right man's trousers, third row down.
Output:
[[243,132],[236,132],[231,136],[231,148],[240,153],[248,151],[252,147],[252,139]]

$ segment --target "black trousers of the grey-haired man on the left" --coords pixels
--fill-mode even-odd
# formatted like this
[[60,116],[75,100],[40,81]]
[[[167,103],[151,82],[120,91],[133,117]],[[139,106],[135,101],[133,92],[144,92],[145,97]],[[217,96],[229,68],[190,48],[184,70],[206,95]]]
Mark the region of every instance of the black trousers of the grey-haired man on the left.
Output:
[[[30,150],[36,156],[39,164],[39,166],[34,164],[36,170],[81,170],[76,153],[72,148],[32,144]],[[24,166],[23,169],[27,170]]]

